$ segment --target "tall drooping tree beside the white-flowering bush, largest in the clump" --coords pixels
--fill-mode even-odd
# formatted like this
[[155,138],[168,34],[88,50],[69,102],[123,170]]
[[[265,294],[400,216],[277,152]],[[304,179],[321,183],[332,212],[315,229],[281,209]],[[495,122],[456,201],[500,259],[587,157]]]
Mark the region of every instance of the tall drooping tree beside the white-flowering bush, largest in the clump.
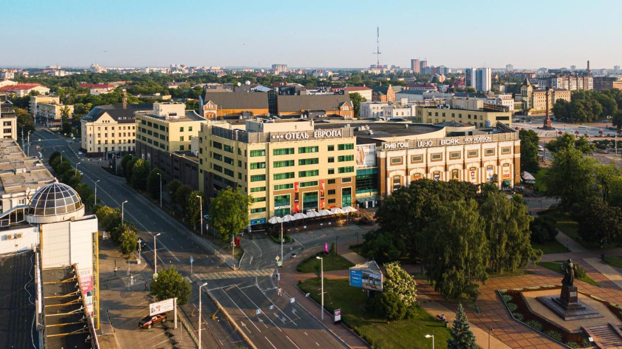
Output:
[[440,209],[440,217],[424,232],[427,278],[445,299],[463,294],[475,300],[477,281],[486,281],[488,243],[476,201],[452,201]]

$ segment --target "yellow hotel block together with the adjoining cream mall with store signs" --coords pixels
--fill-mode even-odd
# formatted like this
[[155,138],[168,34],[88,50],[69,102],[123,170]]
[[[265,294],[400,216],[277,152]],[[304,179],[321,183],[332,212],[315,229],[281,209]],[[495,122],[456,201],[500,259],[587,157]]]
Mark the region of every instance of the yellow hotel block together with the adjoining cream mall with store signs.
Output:
[[518,133],[447,122],[256,119],[210,122],[199,132],[200,190],[241,188],[251,224],[297,212],[372,207],[420,178],[513,186]]

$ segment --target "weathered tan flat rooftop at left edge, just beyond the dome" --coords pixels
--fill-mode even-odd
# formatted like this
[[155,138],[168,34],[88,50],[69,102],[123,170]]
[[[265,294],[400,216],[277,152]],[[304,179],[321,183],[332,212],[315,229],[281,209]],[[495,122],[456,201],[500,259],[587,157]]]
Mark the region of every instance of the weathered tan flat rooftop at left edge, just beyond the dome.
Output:
[[0,140],[0,196],[36,190],[54,180],[45,165],[26,156],[15,140]]

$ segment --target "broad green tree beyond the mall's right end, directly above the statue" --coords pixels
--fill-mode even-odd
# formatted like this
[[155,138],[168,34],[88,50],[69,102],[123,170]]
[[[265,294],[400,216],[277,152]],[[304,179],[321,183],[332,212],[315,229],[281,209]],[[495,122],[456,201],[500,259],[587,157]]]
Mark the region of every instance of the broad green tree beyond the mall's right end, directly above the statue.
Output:
[[573,147],[554,153],[553,163],[544,176],[547,194],[559,198],[559,207],[564,210],[595,195],[595,167],[593,158]]

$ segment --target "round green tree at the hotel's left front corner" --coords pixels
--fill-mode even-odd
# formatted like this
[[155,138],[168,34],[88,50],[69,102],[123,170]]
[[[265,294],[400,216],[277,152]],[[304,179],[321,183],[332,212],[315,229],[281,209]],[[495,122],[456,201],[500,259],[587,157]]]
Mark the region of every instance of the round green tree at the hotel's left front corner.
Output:
[[228,240],[231,235],[237,235],[246,229],[249,224],[250,204],[251,197],[239,189],[228,187],[218,191],[216,197],[211,199],[208,211],[210,225],[218,230],[220,238]]

